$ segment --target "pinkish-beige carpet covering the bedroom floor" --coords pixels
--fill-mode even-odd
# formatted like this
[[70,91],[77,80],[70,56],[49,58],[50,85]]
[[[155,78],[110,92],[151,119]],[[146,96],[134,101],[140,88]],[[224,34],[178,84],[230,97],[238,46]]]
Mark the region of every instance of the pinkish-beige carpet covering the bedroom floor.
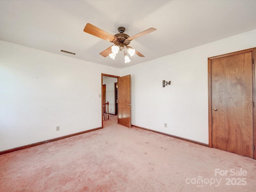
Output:
[[116,123],[116,116],[110,118],[103,129],[1,155],[0,191],[253,192],[256,189],[256,160],[126,128]]

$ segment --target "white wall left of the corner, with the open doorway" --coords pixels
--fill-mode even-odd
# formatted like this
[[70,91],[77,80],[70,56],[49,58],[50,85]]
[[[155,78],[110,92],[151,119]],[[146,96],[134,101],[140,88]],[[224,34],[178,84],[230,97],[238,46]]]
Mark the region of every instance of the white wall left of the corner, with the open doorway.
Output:
[[120,69],[0,41],[0,151],[101,127],[101,73]]

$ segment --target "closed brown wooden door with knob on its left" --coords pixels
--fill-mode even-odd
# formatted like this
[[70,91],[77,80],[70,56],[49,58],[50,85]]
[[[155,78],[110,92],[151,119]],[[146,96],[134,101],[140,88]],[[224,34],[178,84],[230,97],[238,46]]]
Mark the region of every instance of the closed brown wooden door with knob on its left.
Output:
[[212,58],[209,67],[212,100],[209,146],[212,141],[214,148],[253,158],[252,52]]

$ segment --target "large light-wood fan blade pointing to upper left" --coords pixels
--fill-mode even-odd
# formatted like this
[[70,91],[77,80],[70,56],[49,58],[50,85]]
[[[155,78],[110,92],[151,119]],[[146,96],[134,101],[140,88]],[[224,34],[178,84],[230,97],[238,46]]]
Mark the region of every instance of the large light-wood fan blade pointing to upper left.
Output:
[[110,42],[115,42],[116,41],[116,37],[113,36],[112,34],[90,24],[87,23],[86,26],[84,27],[84,32],[89,33],[91,35],[94,35],[98,38],[102,38],[106,41],[110,41]]

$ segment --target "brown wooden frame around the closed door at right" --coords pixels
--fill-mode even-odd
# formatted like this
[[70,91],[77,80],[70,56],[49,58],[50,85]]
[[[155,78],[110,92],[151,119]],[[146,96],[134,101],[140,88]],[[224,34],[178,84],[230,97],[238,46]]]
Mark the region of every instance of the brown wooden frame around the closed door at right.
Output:
[[[256,101],[256,70],[255,70],[255,61],[256,61],[256,48],[250,48],[246,50],[236,51],[228,54],[222,54],[219,56],[213,56],[208,58],[208,126],[209,126],[209,147],[212,148],[212,59],[232,56],[237,54],[243,54],[247,52],[252,52],[252,102]],[[256,104],[252,109],[253,113],[253,145],[256,146]],[[256,151],[253,151],[253,158],[256,159]]]

